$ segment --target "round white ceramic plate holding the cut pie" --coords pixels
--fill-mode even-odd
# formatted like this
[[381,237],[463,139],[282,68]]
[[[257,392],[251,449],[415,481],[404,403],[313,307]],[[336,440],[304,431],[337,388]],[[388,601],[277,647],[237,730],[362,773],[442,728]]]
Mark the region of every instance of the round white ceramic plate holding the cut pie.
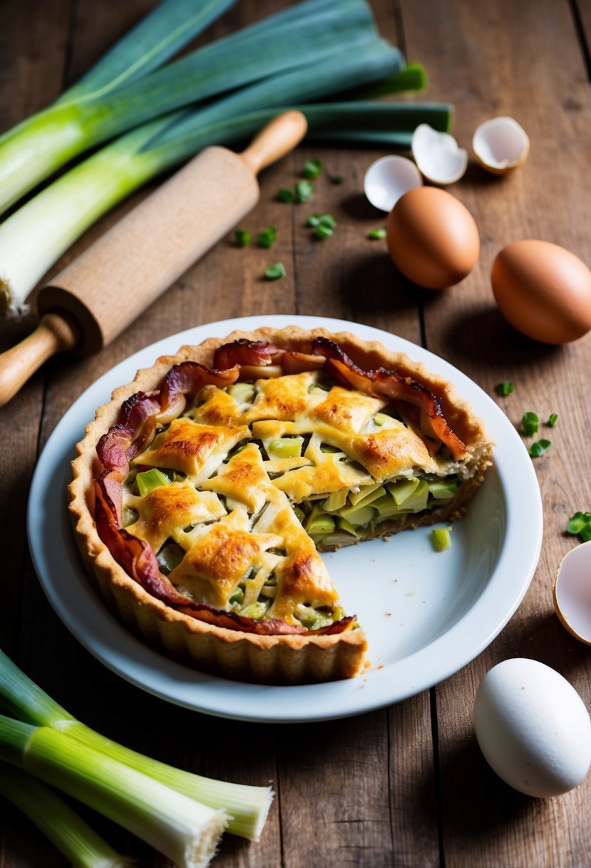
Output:
[[[451,379],[486,420],[495,464],[454,524],[452,547],[432,550],[429,529],[406,531],[325,556],[345,608],[369,641],[371,668],[350,681],[261,687],[195,672],[147,648],[109,614],[82,569],[68,520],[66,486],[75,444],[115,386],[131,381],[180,345],[262,325],[324,326],[354,331],[407,352]],[[524,520],[527,516],[527,521]],[[542,544],[542,503],[522,440],[497,404],[443,359],[387,332],[313,317],[230,319],[160,340],[116,365],[81,395],[49,438],[29,495],[29,546],[37,575],[57,614],[100,661],[162,699],[238,720],[329,720],[370,711],[418,694],[473,660],[509,621],[528,589]]]

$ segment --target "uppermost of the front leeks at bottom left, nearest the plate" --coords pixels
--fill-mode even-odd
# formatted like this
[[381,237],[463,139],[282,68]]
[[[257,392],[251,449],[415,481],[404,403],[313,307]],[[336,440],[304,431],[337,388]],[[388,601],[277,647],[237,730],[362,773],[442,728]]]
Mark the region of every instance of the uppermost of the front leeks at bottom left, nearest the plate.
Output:
[[107,739],[76,720],[0,650],[0,703],[25,723],[51,727],[75,751],[88,747],[187,798],[230,815],[228,832],[257,841],[267,819],[273,793],[268,786],[231,784],[167,766]]

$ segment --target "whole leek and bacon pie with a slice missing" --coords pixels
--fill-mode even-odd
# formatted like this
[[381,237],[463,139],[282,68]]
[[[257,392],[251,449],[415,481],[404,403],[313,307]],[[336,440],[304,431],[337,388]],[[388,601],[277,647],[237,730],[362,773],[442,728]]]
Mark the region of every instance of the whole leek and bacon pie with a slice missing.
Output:
[[491,444],[424,365],[290,327],[159,358],[77,450],[76,537],[127,625],[205,672],[304,683],[367,649],[318,550],[452,521]]

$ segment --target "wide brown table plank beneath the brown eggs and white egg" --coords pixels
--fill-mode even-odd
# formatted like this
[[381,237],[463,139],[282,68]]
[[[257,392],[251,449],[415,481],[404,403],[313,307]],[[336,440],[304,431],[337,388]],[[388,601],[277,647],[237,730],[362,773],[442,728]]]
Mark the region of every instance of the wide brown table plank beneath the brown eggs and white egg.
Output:
[[[408,44],[430,71],[433,97],[456,102],[458,141],[469,146],[478,122],[503,114],[515,116],[532,141],[519,173],[490,181],[471,168],[452,187],[474,214],[483,249],[462,285],[425,299],[427,346],[490,394],[503,378],[516,383],[512,396],[497,398],[516,427],[526,410],[542,419],[560,414],[553,449],[535,465],[545,542],[529,594],[490,649],[437,690],[445,865],[465,865],[466,852],[476,849],[483,866],[583,865],[587,845],[576,818],[588,812],[588,783],[546,801],[510,790],[486,766],[471,712],[484,671],[520,655],[557,668],[589,703],[588,657],[555,618],[550,588],[560,558],[575,544],[564,536],[566,520],[591,503],[581,380],[591,345],[588,337],[562,348],[523,339],[498,314],[489,282],[494,255],[519,238],[553,240],[591,261],[584,228],[591,146],[585,71],[568,3],[545,3],[542,15],[536,3],[447,3],[445,9],[403,3],[402,10]],[[561,60],[549,62],[552,57]]]

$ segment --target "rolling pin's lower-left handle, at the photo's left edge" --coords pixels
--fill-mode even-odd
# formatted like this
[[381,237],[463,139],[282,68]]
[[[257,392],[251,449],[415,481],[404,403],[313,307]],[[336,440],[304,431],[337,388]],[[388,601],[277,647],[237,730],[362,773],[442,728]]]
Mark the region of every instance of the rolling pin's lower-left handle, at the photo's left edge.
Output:
[[58,312],[45,313],[35,332],[20,344],[0,353],[0,406],[14,398],[48,358],[56,352],[71,350],[78,337],[77,328],[67,316]]

